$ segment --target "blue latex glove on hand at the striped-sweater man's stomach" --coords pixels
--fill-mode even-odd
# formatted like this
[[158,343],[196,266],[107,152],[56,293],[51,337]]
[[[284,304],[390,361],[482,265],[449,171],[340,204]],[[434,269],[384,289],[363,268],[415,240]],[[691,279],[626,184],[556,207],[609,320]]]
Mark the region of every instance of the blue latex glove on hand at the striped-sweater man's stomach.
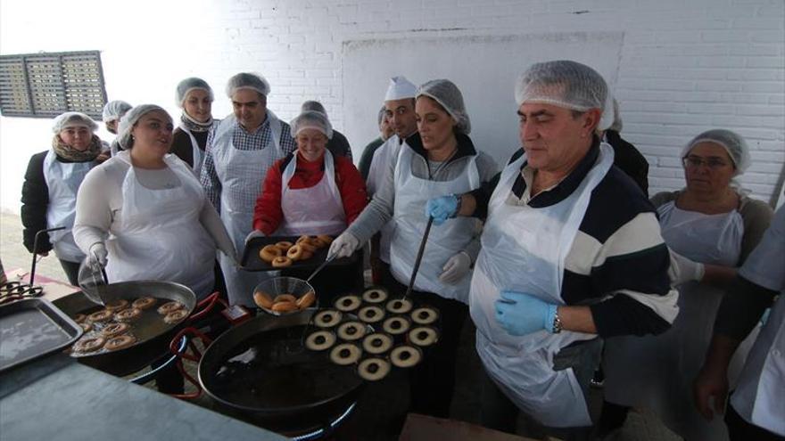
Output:
[[525,292],[501,291],[501,298],[496,300],[496,321],[510,335],[526,335],[543,329],[552,332],[557,308],[558,305]]

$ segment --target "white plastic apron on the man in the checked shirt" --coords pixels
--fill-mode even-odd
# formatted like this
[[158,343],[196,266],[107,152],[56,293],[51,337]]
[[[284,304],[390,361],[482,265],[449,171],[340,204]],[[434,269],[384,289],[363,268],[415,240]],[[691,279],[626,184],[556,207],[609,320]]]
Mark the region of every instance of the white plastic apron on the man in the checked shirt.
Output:
[[[267,110],[271,130],[268,145],[261,150],[238,150],[232,142],[235,130],[243,130],[236,118],[221,120],[210,149],[221,182],[220,217],[235,249],[245,249],[245,236],[253,226],[253,208],[269,167],[284,157],[279,143],[281,121]],[[240,251],[242,252],[242,251]],[[271,273],[251,273],[236,267],[235,260],[219,253],[219,264],[227,283],[229,303],[253,306],[253,289]]]

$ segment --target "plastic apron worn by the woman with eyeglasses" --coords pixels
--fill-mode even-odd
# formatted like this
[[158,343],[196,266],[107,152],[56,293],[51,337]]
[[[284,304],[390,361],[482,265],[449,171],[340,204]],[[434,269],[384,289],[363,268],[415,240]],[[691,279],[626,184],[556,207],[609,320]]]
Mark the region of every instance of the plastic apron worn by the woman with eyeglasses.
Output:
[[[671,201],[657,212],[665,244],[673,251],[705,264],[739,265],[744,222],[738,211],[705,215],[677,208]],[[697,282],[676,288],[679,315],[669,330],[606,340],[606,397],[615,404],[648,407],[686,439],[727,439],[724,422],[706,421],[692,399],[692,381],[703,365],[723,290]],[[731,360],[731,388],[758,331],[756,327],[750,333]]]

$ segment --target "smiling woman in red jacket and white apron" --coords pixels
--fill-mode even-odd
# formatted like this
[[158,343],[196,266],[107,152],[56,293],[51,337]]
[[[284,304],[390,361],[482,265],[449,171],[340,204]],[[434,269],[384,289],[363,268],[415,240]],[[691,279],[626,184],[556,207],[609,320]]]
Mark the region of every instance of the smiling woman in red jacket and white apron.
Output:
[[[351,159],[326,149],[333,129],[324,113],[305,110],[290,123],[297,150],[269,168],[256,200],[256,236],[337,236],[368,203],[365,182]],[[309,270],[282,270],[282,275],[307,278]],[[356,265],[334,266],[311,280],[321,305],[347,290],[363,286],[362,259]]]

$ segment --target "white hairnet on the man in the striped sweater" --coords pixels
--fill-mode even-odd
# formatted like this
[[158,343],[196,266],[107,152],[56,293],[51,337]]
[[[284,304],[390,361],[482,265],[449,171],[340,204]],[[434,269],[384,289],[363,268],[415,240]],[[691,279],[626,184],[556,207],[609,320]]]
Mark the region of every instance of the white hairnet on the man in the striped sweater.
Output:
[[525,102],[552,104],[570,110],[603,110],[607,84],[596,70],[575,61],[533,64],[516,82],[518,106]]

